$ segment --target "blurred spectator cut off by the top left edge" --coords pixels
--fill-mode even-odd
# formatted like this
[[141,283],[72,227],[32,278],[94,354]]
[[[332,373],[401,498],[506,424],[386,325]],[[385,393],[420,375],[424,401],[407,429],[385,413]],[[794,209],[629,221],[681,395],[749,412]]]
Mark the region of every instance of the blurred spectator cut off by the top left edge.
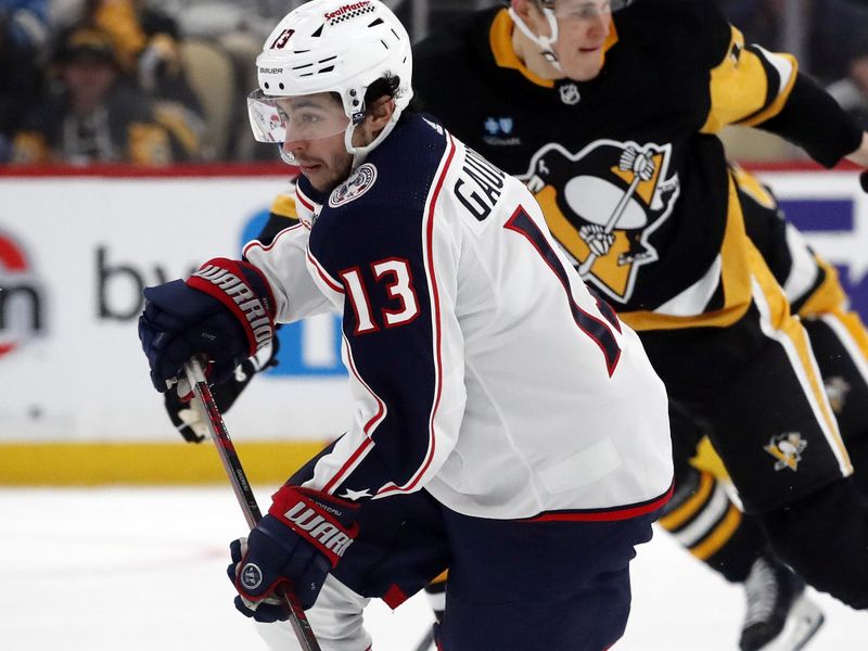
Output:
[[48,38],[47,0],[0,0],[0,163],[38,93]]

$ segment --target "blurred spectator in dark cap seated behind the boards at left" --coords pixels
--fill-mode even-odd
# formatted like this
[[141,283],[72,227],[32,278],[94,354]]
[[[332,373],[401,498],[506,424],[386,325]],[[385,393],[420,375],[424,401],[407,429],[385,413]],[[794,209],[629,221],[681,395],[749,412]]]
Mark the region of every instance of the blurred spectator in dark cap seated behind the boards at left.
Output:
[[168,131],[146,95],[119,81],[112,38],[78,28],[62,39],[55,56],[59,84],[35,105],[14,137],[14,164],[132,163],[177,159]]

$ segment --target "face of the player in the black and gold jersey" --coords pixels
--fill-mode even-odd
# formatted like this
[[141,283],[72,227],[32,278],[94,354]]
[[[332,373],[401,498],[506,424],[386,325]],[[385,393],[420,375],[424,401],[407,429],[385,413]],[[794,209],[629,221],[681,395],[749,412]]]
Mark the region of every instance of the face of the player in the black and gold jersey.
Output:
[[600,74],[603,44],[612,24],[608,0],[557,0],[558,40],[554,53],[564,76],[587,81]]

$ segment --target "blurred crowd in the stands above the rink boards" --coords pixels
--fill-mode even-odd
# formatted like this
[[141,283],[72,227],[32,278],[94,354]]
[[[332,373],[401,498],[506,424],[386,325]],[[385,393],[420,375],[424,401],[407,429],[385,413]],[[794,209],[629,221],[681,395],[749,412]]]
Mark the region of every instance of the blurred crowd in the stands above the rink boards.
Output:
[[[796,26],[802,69],[868,124],[868,3],[718,2],[769,50],[792,50]],[[248,137],[245,98],[270,27],[301,3],[0,0],[0,164],[276,159]],[[496,3],[390,2],[413,38]]]

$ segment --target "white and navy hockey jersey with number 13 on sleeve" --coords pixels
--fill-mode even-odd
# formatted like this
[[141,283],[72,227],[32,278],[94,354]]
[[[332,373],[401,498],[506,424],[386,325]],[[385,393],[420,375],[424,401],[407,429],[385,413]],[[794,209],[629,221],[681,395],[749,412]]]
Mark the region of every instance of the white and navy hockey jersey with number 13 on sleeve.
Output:
[[663,384],[521,181],[405,115],[346,182],[321,196],[302,177],[296,199],[302,224],[244,253],[279,321],[343,314],[350,423],[306,486],[347,499],[424,487],[495,519],[662,506]]

